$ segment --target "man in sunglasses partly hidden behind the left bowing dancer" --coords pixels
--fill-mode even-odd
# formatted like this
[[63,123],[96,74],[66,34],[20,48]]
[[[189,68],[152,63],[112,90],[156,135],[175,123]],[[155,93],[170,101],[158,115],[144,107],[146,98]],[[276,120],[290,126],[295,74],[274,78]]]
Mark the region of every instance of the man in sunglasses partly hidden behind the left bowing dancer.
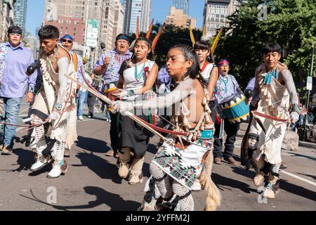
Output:
[[[74,63],[74,71],[77,71],[77,76],[78,76],[78,82],[81,84],[84,84],[84,78],[82,77],[83,75],[86,77],[88,82],[92,82],[91,78],[86,75],[84,72],[84,63],[81,58],[77,53],[72,51],[72,47],[74,46],[74,38],[70,36],[69,34],[66,34],[64,37],[60,39],[60,42],[62,46],[67,49],[70,54],[72,55],[72,61]],[[86,97],[88,95],[88,91],[86,89],[78,86],[77,87],[78,92],[77,92],[77,118],[78,120],[84,120],[84,101],[86,100]],[[65,149],[65,157],[70,157],[69,153],[70,149]]]

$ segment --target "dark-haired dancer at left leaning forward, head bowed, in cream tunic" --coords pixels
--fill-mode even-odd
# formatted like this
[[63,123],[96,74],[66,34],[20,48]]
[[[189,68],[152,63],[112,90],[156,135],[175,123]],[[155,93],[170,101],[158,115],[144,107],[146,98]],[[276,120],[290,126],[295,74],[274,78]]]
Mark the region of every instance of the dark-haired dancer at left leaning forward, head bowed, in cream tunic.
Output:
[[[65,148],[70,148],[77,140],[77,85],[67,79],[65,74],[74,79],[77,79],[77,75],[74,72],[72,56],[58,43],[58,37],[58,28],[52,25],[46,25],[39,30],[44,89],[35,97],[31,115],[31,124],[34,125],[31,149],[37,151],[37,161],[32,165],[31,171],[38,171],[47,165],[52,157],[53,169],[48,173],[48,178],[65,174]],[[48,130],[44,129],[43,124],[49,125]],[[48,145],[46,136],[51,139]],[[51,157],[46,151],[51,151]]]

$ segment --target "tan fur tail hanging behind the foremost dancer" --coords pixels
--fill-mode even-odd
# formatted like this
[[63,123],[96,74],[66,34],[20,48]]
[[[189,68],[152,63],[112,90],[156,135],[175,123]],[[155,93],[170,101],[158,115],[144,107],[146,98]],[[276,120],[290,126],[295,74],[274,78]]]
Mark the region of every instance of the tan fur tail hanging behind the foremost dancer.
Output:
[[215,211],[220,206],[221,195],[217,186],[211,179],[213,167],[213,153],[209,152],[207,156],[201,176],[199,177],[200,184],[203,190],[206,190],[206,200],[204,211]]

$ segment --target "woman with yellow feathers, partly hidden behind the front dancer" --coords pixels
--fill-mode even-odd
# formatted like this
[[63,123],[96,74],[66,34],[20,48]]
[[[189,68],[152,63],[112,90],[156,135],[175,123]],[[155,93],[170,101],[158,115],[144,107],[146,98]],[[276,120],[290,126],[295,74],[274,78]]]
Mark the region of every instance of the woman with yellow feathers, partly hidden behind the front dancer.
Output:
[[[207,82],[207,90],[209,91],[209,96],[211,98],[210,108],[211,108],[211,117],[213,121],[216,121],[216,114],[218,103],[215,101],[215,96],[213,95],[213,90],[215,84],[218,80],[218,68],[215,63],[209,63],[209,55],[211,54],[211,47],[206,41],[197,41],[195,43],[195,52],[199,58],[199,67],[201,68],[201,75]],[[201,185],[199,180],[195,181],[195,184],[192,186],[192,191],[200,191]]]

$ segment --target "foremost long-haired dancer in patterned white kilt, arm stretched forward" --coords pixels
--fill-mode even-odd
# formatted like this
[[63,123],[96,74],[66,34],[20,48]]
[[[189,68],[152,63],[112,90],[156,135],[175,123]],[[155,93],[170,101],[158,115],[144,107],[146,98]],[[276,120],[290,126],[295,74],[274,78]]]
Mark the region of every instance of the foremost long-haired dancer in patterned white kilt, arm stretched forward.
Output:
[[142,210],[161,207],[194,210],[191,186],[197,177],[207,191],[205,209],[216,210],[220,205],[220,193],[211,181],[213,122],[206,82],[199,74],[197,54],[191,46],[173,46],[166,66],[176,84],[169,94],[147,101],[114,103],[114,110],[123,114],[133,112],[134,108],[143,111],[173,108],[171,123],[175,131],[169,131],[170,135],[164,138],[162,147],[150,163],[152,176],[146,184]]

